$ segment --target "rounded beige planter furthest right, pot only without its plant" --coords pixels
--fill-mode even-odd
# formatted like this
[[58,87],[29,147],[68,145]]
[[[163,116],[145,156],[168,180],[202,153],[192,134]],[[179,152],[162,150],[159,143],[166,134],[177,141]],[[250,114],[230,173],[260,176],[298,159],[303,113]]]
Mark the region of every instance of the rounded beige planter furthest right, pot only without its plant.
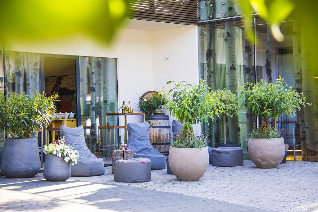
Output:
[[276,168],[285,156],[284,138],[248,139],[248,154],[258,168]]

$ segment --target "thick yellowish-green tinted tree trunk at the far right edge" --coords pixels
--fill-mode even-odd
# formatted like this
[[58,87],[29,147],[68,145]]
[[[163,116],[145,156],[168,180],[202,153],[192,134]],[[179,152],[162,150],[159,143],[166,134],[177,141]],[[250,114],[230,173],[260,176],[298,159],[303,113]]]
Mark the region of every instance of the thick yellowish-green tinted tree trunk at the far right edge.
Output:
[[[306,21],[306,19],[301,19]],[[301,28],[301,35],[309,34],[310,31],[306,31],[305,28]],[[307,97],[307,102],[311,103],[311,106],[304,107],[304,120],[306,129],[306,154],[307,161],[318,161],[318,142],[317,142],[317,113],[316,113],[316,92],[315,89],[315,75],[317,70],[313,69],[312,64],[308,64],[308,57],[313,54],[315,49],[307,48],[310,46],[311,40],[303,39],[301,36],[301,76],[302,76],[302,90]],[[316,68],[316,67],[315,67]]]

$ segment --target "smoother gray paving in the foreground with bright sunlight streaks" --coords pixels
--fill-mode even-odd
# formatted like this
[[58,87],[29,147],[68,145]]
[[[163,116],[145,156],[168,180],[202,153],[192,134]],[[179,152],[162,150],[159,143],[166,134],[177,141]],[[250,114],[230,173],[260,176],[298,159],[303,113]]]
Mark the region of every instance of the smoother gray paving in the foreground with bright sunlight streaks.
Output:
[[213,199],[128,186],[0,177],[0,211],[268,211]]

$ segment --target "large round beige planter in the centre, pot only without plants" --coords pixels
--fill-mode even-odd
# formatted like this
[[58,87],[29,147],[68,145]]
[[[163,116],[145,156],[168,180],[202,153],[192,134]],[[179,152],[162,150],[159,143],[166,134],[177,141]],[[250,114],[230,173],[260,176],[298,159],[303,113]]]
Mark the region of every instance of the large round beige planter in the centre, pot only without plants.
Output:
[[178,180],[200,180],[208,169],[208,165],[208,147],[169,148],[169,167]]

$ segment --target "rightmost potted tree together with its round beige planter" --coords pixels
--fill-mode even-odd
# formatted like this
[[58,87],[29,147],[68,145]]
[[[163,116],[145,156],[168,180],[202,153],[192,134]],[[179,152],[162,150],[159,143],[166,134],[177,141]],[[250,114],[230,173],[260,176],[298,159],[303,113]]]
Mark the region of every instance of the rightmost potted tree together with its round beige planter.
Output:
[[[285,143],[276,130],[277,117],[288,114],[295,116],[305,104],[306,97],[288,86],[283,78],[276,83],[261,80],[255,84],[245,83],[238,89],[242,105],[252,114],[262,117],[260,128],[249,134],[248,154],[258,168],[276,168],[285,156]],[[271,126],[269,119],[274,120]]]

